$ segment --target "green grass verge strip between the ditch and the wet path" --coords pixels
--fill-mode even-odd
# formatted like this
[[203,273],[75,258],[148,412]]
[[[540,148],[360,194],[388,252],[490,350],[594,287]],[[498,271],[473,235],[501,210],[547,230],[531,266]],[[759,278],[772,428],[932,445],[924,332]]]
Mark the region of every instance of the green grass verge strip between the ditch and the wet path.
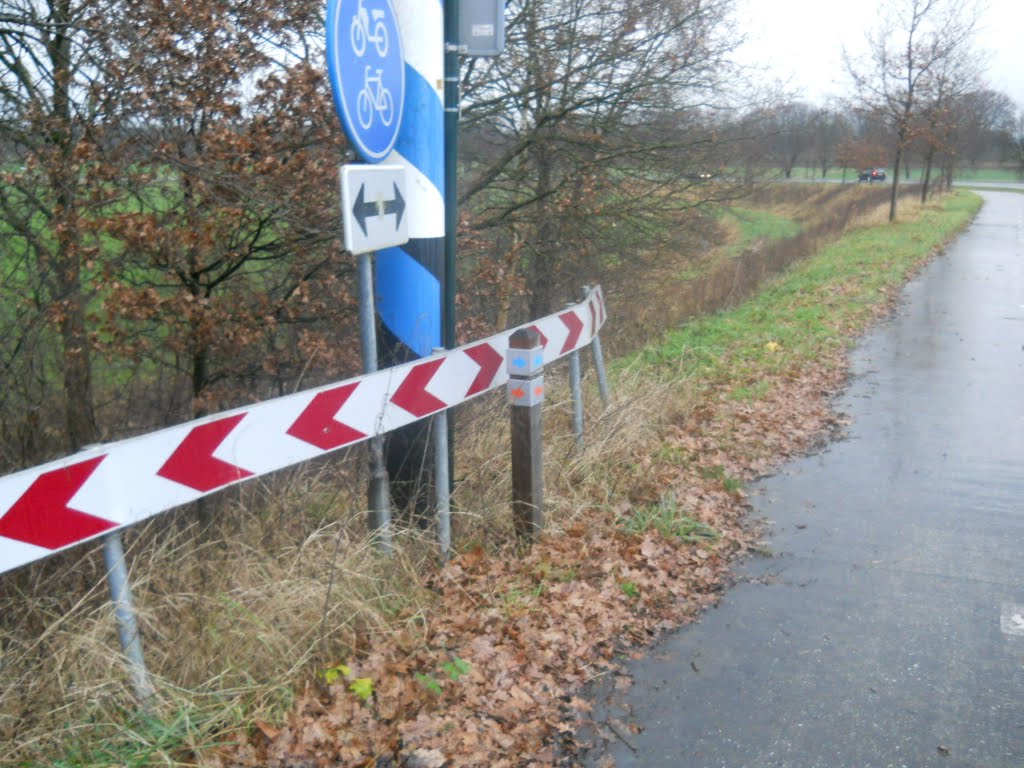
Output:
[[980,205],[977,195],[961,190],[912,218],[855,230],[738,307],[670,332],[639,353],[641,362],[705,381],[728,380],[741,396],[756,397],[761,375],[848,347],[890,292]]

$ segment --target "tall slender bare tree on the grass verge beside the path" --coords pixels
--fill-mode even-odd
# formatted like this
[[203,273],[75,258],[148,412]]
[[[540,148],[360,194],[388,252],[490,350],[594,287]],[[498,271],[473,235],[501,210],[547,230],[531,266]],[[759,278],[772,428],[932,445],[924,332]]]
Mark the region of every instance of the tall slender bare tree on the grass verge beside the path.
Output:
[[878,31],[869,33],[866,59],[846,56],[858,104],[884,120],[893,133],[890,221],[896,218],[900,171],[928,94],[937,91],[943,68],[954,69],[977,18],[972,0],[901,0],[872,28]]

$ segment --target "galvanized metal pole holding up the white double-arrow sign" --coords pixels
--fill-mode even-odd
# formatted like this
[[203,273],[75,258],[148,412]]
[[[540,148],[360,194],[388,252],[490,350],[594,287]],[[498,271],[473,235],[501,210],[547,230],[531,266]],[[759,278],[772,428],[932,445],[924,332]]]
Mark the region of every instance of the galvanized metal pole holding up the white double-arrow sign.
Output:
[[[360,253],[359,270],[359,343],[362,346],[362,372],[377,370],[377,316],[374,307],[373,254]],[[391,499],[388,495],[387,468],[384,466],[384,438],[376,435],[370,440],[370,487],[367,492],[370,507],[367,524],[377,541],[377,546],[391,552]]]

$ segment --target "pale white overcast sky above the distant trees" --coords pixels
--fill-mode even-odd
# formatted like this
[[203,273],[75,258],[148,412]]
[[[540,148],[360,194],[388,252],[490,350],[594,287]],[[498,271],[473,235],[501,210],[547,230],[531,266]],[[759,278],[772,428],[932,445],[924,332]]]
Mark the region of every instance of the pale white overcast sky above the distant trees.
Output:
[[[741,63],[767,67],[766,77],[787,81],[798,94],[822,103],[848,95],[843,46],[862,50],[869,25],[885,0],[737,0],[738,31],[746,42]],[[987,0],[976,49],[990,56],[987,80],[1024,110],[1024,0]]]

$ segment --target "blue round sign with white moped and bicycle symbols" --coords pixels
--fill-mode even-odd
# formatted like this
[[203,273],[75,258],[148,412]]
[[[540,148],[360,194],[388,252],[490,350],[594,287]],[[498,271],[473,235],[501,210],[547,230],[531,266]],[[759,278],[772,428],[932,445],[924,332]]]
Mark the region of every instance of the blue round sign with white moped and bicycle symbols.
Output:
[[328,0],[327,69],[345,134],[368,163],[394,148],[406,59],[391,0]]

